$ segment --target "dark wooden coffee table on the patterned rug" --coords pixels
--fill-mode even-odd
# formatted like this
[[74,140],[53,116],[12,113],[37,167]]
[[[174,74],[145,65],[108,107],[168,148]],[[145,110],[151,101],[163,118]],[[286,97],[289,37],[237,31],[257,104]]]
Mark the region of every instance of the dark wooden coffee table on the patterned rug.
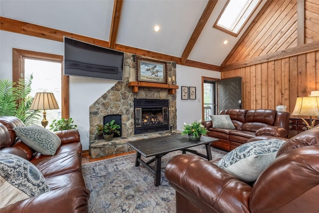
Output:
[[[155,186],[157,187],[160,185],[161,157],[169,152],[181,150],[183,154],[187,151],[202,158],[206,158],[207,160],[211,160],[210,144],[215,141],[218,141],[218,139],[207,136],[201,136],[199,141],[192,141],[189,140],[187,135],[181,136],[181,134],[173,134],[169,136],[131,141],[127,142],[127,144],[137,151],[135,166],[140,166],[140,164],[145,166],[155,176]],[[199,145],[205,145],[207,155],[188,149]],[[155,156],[155,158],[145,162],[141,159],[141,155],[146,158]],[[155,168],[150,166],[150,164],[154,161]]]

